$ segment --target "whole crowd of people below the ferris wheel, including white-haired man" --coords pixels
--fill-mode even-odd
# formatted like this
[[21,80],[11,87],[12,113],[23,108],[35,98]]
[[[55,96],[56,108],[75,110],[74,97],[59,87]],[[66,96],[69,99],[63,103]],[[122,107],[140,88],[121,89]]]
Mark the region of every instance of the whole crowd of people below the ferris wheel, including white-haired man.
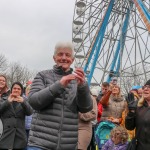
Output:
[[71,65],[73,45],[55,46],[55,65],[28,81],[9,88],[0,75],[0,150],[96,150],[95,131],[103,122],[114,124],[101,150],[150,147],[150,80],[133,86],[124,96],[117,78],[90,88],[82,68]]

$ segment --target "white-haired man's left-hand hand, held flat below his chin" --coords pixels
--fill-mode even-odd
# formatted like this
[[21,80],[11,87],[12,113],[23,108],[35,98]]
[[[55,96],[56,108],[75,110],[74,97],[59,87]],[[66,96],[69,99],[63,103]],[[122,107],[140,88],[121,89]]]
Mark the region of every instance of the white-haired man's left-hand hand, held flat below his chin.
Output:
[[75,80],[76,77],[74,74],[69,74],[67,76],[63,76],[60,80],[60,84],[64,87],[67,87],[67,85],[70,83],[71,80]]

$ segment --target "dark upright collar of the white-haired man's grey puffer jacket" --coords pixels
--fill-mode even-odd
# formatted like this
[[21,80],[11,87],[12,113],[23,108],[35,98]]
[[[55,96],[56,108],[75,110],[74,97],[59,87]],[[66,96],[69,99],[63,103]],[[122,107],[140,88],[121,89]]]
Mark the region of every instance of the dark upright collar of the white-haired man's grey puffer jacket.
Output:
[[69,71],[65,72],[65,71],[62,69],[61,66],[58,67],[57,65],[54,65],[54,66],[53,66],[53,70],[54,70],[54,72],[55,72],[56,74],[59,74],[59,75],[68,75],[68,74],[71,74],[72,71],[73,71],[73,69],[70,68]]

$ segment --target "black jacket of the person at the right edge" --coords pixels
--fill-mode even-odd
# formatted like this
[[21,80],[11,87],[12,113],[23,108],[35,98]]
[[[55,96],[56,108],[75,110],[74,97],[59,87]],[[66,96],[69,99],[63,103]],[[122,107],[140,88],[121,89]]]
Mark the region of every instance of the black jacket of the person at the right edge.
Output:
[[150,149],[150,106],[148,106],[146,101],[143,106],[137,107],[135,113],[128,113],[125,120],[125,126],[128,130],[136,129],[136,150]]

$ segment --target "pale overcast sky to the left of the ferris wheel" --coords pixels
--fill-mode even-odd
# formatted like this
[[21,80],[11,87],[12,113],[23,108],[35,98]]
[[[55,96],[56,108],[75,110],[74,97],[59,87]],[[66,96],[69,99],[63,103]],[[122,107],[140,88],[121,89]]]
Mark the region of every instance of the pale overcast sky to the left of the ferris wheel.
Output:
[[0,54],[33,70],[54,65],[57,41],[71,41],[75,0],[0,0]]

